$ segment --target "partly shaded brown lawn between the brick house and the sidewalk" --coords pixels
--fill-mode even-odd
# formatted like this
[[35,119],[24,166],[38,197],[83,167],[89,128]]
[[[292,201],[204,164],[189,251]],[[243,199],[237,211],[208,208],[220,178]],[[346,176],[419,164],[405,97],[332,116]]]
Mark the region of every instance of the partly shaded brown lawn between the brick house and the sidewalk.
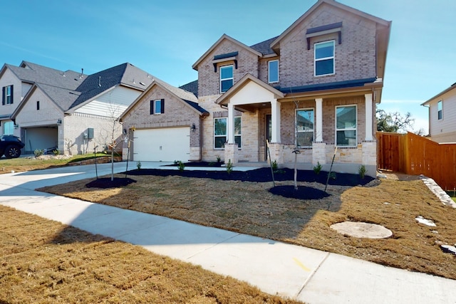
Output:
[[[133,178],[136,183],[121,189],[86,188],[89,180],[83,180],[42,190],[456,279],[455,256],[442,253],[439,246],[456,242],[456,210],[443,205],[420,180],[329,186],[328,198],[300,201],[269,193],[271,183]],[[301,184],[324,189],[317,183]],[[418,224],[415,217],[420,215],[437,227]],[[356,239],[330,228],[347,220],[383,225],[393,236]]]

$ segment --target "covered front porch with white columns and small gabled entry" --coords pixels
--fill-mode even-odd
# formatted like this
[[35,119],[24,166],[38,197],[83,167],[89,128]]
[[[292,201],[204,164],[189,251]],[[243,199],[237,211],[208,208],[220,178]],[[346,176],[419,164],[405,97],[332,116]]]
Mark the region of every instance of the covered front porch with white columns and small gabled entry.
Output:
[[[374,98],[373,90],[366,88],[363,92],[351,95],[345,93],[328,97],[303,94],[289,97],[252,75],[247,75],[217,100],[217,103],[228,110],[224,162],[232,162],[234,165],[242,162],[244,159],[239,156],[249,149],[244,142],[257,140],[257,162],[275,161],[280,167],[294,167],[296,157],[299,169],[313,169],[319,163],[323,170],[328,170],[334,159],[333,167],[339,172],[357,173],[363,164],[369,174],[375,176]],[[338,105],[351,105],[354,108],[354,131],[336,130],[334,112]],[[296,145],[295,142],[298,136],[296,111],[301,108],[311,109],[313,114],[310,119],[311,138],[309,145],[305,147]],[[237,111],[245,113],[242,115],[243,128],[247,129],[247,126],[244,126],[247,123],[257,127],[257,139],[246,138],[247,136],[242,134],[242,149],[239,149],[234,140],[234,117]],[[253,116],[254,120],[247,119]],[[356,134],[353,140],[341,145],[336,137],[350,132]],[[269,151],[266,142],[269,143]]]

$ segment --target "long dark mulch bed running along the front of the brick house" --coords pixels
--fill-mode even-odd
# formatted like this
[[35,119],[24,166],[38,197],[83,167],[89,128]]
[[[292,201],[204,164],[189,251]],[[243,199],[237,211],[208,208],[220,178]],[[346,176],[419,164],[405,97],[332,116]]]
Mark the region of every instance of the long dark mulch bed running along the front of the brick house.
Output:
[[[176,175],[180,177],[196,177],[196,178],[207,178],[207,179],[222,179],[231,181],[242,181],[242,182],[272,182],[271,168],[259,168],[250,170],[247,172],[232,171],[205,171],[205,170],[169,170],[169,169],[135,169],[128,172],[128,175],[155,175],[160,177],[167,177],[170,175]],[[336,178],[330,178],[328,184],[337,186],[357,186],[365,185],[373,181],[372,177],[361,177],[358,174],[348,173],[336,173]],[[318,182],[320,184],[326,184],[328,178],[328,172],[320,172],[315,174],[312,170],[298,170],[297,181],[298,182]],[[276,181],[293,181],[294,180],[294,169],[280,169],[279,172],[274,174]]]

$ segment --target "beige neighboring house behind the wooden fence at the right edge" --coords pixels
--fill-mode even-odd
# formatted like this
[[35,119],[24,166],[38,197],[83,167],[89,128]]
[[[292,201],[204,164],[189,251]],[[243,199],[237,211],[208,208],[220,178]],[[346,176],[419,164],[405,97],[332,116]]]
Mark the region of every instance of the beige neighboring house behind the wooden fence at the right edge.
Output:
[[456,83],[423,103],[429,108],[429,135],[435,142],[456,142]]

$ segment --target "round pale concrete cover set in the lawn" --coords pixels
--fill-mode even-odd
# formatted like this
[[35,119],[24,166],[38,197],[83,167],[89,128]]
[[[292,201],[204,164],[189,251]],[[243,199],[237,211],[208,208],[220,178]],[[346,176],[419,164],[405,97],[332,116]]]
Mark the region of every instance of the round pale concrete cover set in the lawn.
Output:
[[358,221],[343,221],[331,225],[331,228],[340,234],[348,234],[356,238],[385,239],[393,235],[390,229],[383,226]]

